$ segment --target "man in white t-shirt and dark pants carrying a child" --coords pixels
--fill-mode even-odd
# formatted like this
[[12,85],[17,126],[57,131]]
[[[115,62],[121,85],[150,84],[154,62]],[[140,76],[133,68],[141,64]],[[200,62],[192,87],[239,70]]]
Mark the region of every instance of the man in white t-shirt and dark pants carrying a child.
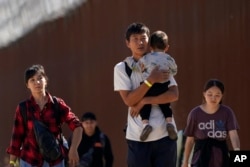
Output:
[[[178,99],[176,81],[169,76],[167,70],[160,70],[158,67],[143,81],[141,71],[137,68],[138,60],[148,52],[149,34],[149,28],[145,24],[130,24],[125,37],[132,56],[114,67],[114,90],[119,92],[123,102],[129,107],[126,130],[127,164],[128,167],[176,167],[176,141],[168,137],[165,117],[156,105],[171,103]],[[175,86],[171,86],[168,91],[158,96],[144,97],[151,85],[168,79]],[[143,84],[140,84],[141,82]],[[145,104],[155,104],[149,118],[153,131],[145,141],[141,141],[143,124],[139,112]]]

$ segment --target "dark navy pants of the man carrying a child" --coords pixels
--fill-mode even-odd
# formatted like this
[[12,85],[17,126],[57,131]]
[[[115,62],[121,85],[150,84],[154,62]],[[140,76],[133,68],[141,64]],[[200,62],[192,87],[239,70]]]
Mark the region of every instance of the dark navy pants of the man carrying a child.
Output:
[[127,140],[128,167],[176,167],[177,143],[169,137],[151,142]]

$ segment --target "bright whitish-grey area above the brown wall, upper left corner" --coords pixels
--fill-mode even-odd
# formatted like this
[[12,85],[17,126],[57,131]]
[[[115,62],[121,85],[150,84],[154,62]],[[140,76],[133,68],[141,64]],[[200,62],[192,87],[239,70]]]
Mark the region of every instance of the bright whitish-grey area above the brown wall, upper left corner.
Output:
[[87,0],[0,0],[0,48]]

